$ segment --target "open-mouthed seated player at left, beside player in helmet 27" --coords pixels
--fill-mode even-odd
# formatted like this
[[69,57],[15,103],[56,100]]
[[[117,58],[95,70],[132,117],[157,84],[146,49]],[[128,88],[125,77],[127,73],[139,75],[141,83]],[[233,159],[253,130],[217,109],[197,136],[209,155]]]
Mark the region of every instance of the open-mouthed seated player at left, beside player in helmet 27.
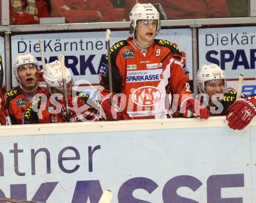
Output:
[[6,93],[6,108],[12,124],[23,124],[23,115],[30,103],[36,99],[38,93],[45,93],[45,89],[38,87],[37,59],[30,53],[16,56],[13,73],[18,86]]

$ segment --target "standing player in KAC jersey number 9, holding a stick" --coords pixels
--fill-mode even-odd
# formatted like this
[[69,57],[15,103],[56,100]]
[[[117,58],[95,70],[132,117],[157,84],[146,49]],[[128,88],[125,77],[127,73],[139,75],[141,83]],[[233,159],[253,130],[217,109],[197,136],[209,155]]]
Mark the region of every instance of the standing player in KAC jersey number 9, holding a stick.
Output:
[[[194,100],[187,87],[189,71],[182,63],[180,50],[171,42],[155,39],[160,27],[159,13],[151,3],[137,3],[129,14],[131,37],[111,48],[113,103],[122,101],[122,113],[115,112],[109,98],[108,55],[99,69],[101,107],[107,120],[169,118],[170,102],[176,95],[178,107],[197,111],[197,117],[208,118],[209,111]],[[117,98],[121,94],[121,99]],[[118,105],[119,106],[119,105]],[[115,113],[114,113],[115,112]],[[115,114],[115,117],[113,117]]]

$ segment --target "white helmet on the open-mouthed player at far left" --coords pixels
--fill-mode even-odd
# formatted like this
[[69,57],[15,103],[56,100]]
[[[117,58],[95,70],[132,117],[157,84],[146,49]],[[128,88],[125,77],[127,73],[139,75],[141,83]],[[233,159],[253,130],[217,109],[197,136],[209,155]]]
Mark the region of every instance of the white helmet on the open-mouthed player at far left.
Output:
[[15,63],[13,64],[13,73],[14,73],[14,75],[17,79],[18,79],[18,69],[19,69],[19,67],[24,65],[24,64],[30,64],[30,63],[34,64],[37,67],[37,70],[38,70],[38,61],[30,53],[24,53],[23,55],[17,55],[16,56]]

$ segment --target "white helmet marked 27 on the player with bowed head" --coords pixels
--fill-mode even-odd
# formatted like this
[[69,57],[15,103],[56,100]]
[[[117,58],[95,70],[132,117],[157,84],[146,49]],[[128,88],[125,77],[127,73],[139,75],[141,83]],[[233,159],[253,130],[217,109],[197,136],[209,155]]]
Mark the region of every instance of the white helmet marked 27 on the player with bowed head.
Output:
[[[69,68],[66,68],[66,82],[72,81],[72,77],[69,71]],[[44,70],[44,80],[49,87],[59,87],[63,86],[62,73],[61,73],[61,62],[55,60],[51,63],[45,64]]]

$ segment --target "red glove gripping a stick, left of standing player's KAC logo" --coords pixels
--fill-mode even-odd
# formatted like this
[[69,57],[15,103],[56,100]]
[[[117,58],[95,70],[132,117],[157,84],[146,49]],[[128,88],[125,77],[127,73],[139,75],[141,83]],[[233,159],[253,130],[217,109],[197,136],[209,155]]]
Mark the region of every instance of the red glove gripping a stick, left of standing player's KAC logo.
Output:
[[120,102],[117,102],[115,97],[111,100],[110,97],[101,102],[101,115],[105,121],[118,121],[122,119],[122,114],[118,111],[118,106],[120,107]]

